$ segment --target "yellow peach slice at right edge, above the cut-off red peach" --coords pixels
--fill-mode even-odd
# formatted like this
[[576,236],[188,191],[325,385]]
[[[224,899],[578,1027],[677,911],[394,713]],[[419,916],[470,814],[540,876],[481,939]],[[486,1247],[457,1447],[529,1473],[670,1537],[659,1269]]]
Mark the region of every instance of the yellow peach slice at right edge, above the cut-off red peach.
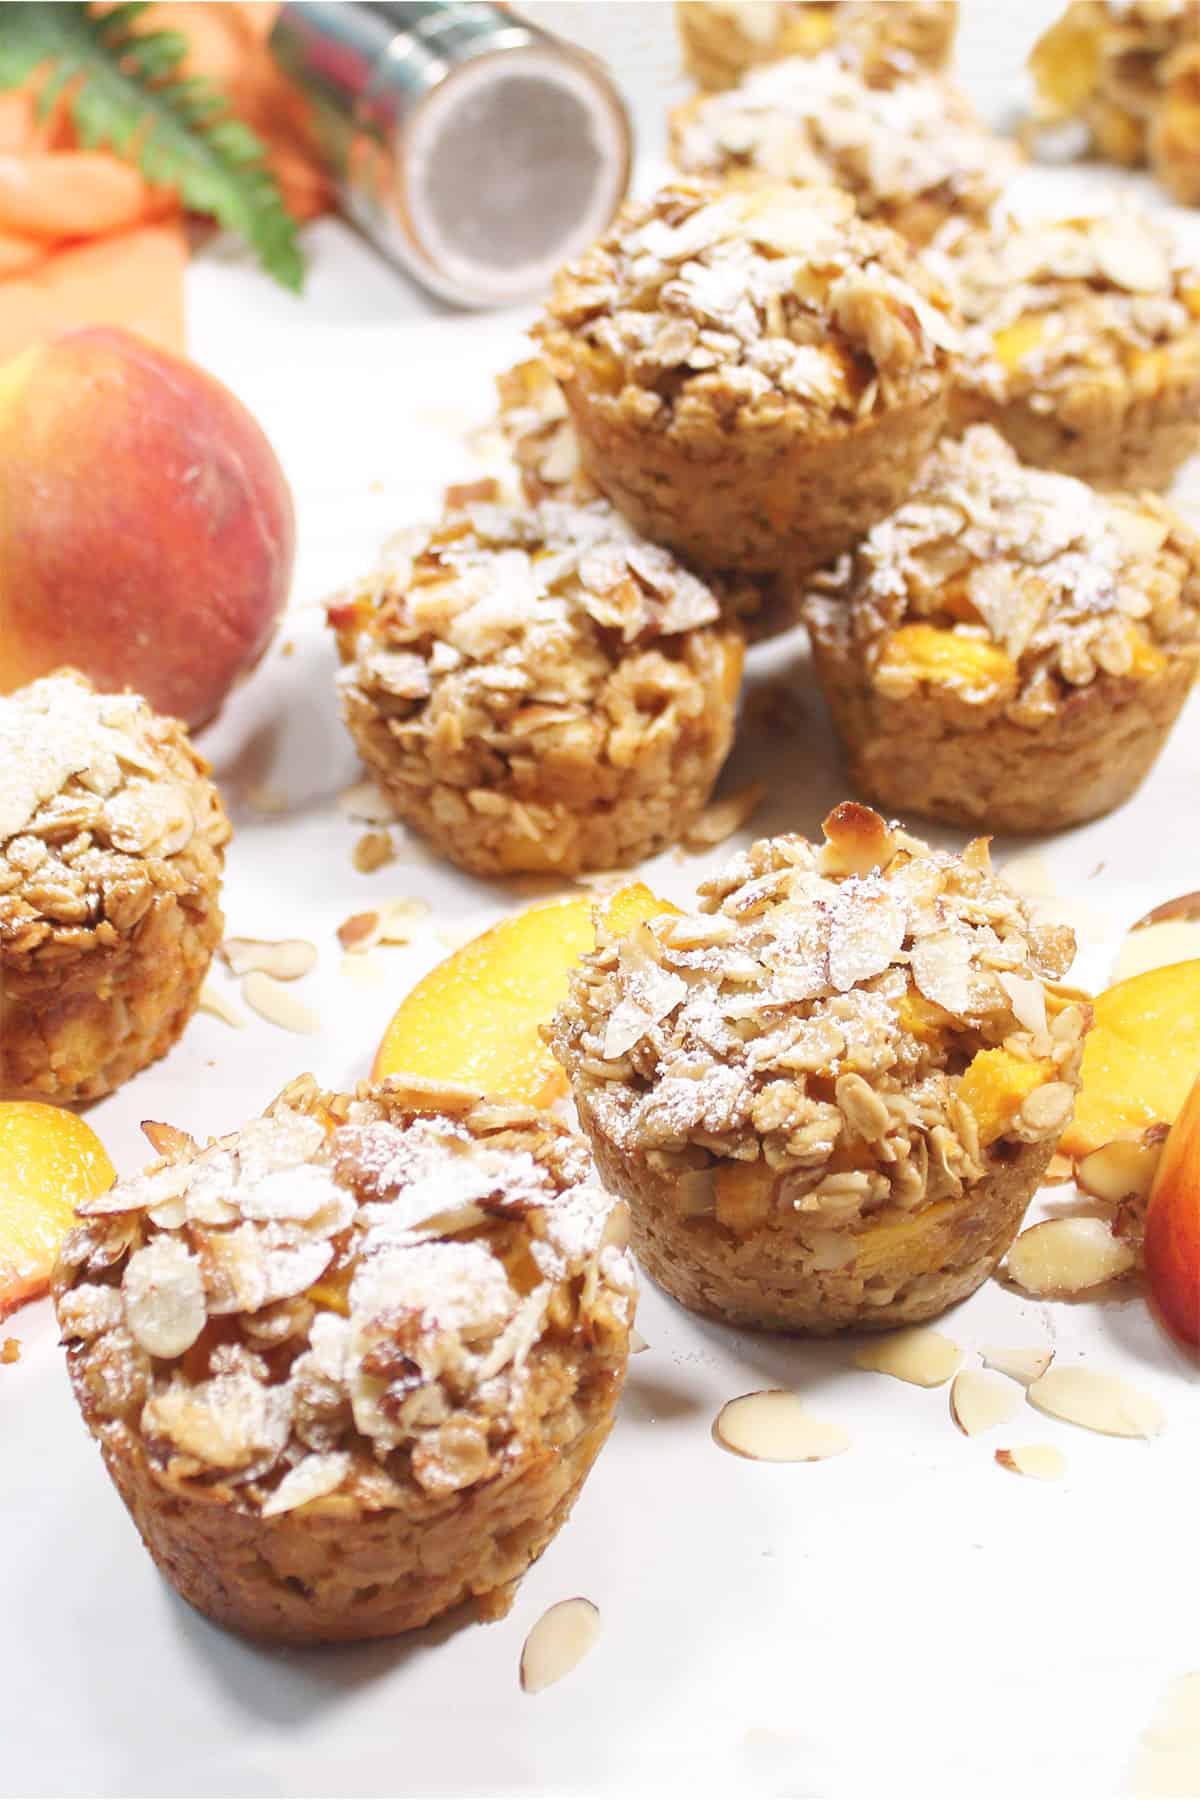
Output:
[[1200,959],[1117,981],[1092,1006],[1063,1156],[1175,1123],[1200,1069]]

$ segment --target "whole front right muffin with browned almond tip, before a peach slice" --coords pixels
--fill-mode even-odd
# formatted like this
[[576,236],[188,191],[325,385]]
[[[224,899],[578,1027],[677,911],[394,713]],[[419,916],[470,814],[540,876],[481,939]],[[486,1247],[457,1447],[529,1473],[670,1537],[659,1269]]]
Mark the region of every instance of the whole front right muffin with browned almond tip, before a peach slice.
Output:
[[599,932],[551,1028],[642,1267],[734,1325],[928,1319],[1006,1253],[1070,1118],[1065,927],[988,844],[865,806],[763,839],[700,911]]

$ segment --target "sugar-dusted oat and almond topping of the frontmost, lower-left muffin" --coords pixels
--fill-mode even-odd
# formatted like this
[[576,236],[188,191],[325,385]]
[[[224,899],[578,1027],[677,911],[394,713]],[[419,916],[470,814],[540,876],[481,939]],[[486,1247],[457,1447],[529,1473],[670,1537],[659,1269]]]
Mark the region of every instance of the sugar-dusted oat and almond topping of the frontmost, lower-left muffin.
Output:
[[261,1517],[414,1510],[556,1449],[622,1366],[624,1210],[547,1114],[309,1076],[81,1208],[58,1318],[92,1427]]

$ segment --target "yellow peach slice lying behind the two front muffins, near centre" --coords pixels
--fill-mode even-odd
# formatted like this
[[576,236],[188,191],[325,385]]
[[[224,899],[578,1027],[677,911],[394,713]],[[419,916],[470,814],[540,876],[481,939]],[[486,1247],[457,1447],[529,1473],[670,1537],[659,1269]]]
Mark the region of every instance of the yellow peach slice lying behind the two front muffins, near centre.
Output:
[[608,900],[569,895],[500,920],[417,981],[383,1033],[372,1080],[403,1071],[551,1105],[567,1076],[538,1028],[565,999],[572,965],[596,949],[596,916],[621,936],[676,911],[631,882]]

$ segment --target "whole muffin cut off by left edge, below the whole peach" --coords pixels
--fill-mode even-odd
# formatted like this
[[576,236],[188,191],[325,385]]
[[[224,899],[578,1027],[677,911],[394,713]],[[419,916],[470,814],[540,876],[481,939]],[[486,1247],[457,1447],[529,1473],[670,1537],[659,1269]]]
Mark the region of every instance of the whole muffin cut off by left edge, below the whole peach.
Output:
[[0,697],[0,1094],[97,1100],[175,1044],[228,835],[184,725],[139,695],[63,670]]

